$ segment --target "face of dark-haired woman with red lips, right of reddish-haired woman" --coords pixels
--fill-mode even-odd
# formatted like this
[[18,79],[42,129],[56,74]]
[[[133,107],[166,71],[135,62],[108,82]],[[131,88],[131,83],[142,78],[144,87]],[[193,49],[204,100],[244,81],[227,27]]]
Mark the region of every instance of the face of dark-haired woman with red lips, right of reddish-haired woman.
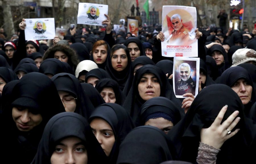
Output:
[[123,71],[127,67],[128,58],[124,49],[120,48],[113,52],[113,55],[111,57],[111,64],[113,69],[118,72]]

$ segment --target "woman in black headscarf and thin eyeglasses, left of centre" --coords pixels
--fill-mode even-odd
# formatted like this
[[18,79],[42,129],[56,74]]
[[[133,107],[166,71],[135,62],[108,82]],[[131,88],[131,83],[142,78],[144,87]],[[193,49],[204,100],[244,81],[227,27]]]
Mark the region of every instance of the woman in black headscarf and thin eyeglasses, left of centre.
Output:
[[84,93],[79,80],[69,73],[58,73],[51,80],[57,88],[66,112],[75,112],[89,118],[94,106]]

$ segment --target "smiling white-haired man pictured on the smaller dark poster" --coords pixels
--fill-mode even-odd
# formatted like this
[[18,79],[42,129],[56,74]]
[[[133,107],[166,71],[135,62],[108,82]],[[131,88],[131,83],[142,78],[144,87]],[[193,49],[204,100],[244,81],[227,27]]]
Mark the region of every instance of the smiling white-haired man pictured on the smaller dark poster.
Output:
[[191,68],[188,63],[179,65],[180,80],[176,82],[175,93],[176,95],[183,95],[185,93],[192,93],[195,95],[196,83],[191,78]]

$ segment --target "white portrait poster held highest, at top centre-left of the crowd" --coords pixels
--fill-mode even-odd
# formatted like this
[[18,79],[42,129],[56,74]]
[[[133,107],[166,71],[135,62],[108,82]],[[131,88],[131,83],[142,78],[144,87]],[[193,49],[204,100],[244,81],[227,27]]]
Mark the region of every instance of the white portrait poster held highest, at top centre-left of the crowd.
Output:
[[107,19],[104,14],[108,15],[108,5],[79,3],[77,24],[107,26],[106,24],[102,24],[102,21]]

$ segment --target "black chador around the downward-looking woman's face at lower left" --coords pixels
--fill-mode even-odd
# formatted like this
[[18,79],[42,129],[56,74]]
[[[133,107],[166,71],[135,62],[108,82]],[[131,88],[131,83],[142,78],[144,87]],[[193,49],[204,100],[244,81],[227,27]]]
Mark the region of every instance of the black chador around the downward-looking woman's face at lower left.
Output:
[[[1,132],[5,134],[0,136],[0,146],[6,150],[2,153],[3,158],[7,158],[10,163],[30,163],[36,154],[46,123],[55,114],[65,112],[65,109],[55,85],[42,73],[32,72],[22,77],[7,97],[11,100],[5,105],[4,119],[1,120],[1,124],[8,125],[1,127]],[[28,132],[18,130],[12,117],[13,106],[28,108],[32,113],[41,114],[42,122]],[[13,147],[17,151],[14,152],[15,158],[10,158],[7,152],[12,151]]]

